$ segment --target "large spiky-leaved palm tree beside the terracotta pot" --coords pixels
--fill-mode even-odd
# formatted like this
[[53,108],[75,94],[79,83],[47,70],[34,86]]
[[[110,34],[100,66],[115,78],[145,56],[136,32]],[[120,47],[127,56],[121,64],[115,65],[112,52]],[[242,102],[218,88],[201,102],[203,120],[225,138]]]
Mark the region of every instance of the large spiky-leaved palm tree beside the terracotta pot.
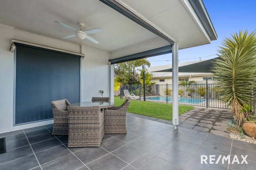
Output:
[[218,50],[212,71],[215,73],[220,99],[231,106],[239,126],[245,119],[243,107],[252,105],[256,87],[256,33],[240,31],[226,37]]

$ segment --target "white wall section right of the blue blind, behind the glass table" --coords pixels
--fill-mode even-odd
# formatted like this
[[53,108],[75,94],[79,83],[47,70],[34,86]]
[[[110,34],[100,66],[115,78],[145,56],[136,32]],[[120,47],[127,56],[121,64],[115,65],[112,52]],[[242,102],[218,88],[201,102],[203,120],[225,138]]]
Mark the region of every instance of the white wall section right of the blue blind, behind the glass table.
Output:
[[82,60],[82,95],[81,101],[91,101],[92,97],[102,97],[100,90],[104,90],[103,97],[109,96],[109,57],[110,53],[82,46],[85,58]]

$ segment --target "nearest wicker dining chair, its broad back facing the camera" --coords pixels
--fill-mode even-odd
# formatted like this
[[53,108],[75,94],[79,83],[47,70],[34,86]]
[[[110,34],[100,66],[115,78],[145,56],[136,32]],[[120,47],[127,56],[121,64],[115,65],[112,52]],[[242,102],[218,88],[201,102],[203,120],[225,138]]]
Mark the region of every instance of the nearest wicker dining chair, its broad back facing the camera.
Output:
[[100,106],[68,106],[68,148],[99,147],[104,136]]

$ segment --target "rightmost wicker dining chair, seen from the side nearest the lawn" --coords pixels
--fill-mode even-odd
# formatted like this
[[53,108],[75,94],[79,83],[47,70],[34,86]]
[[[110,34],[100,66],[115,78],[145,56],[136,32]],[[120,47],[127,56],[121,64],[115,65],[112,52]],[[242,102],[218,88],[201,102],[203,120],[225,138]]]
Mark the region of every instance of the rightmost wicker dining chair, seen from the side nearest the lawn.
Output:
[[110,107],[105,110],[105,133],[127,133],[126,127],[126,112],[128,106],[130,105],[130,100],[126,99],[121,106]]

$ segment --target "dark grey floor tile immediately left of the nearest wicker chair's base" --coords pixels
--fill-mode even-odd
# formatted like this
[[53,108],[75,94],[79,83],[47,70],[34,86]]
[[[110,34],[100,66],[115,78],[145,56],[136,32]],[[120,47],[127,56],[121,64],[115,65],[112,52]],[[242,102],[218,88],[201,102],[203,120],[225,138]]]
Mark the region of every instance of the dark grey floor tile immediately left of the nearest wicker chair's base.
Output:
[[56,138],[44,140],[43,142],[38,142],[35,144],[31,144],[31,147],[35,153],[43,151],[45,149],[53,148],[55,146],[62,145],[60,141]]

